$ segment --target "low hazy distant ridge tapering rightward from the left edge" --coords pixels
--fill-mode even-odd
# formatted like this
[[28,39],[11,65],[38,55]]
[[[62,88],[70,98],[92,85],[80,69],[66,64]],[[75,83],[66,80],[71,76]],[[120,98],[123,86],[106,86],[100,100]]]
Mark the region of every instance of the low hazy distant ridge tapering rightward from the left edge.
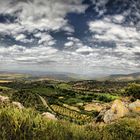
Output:
[[0,71],[0,80],[14,80],[14,79],[27,79],[27,80],[62,80],[62,81],[76,81],[88,80],[86,76],[65,73],[65,72],[40,72],[40,71]]

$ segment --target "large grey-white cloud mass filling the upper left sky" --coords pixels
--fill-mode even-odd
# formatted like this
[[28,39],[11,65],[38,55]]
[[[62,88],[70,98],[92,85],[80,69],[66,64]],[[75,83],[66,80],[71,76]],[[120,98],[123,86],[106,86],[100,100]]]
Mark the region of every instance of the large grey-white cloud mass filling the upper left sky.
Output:
[[[16,41],[32,42],[23,33],[40,37],[39,44],[48,41],[49,31],[74,32],[65,16],[68,13],[84,13],[87,6],[82,0],[6,0],[0,5],[0,14],[15,17],[14,22],[0,23],[0,34],[11,35]],[[39,31],[40,36],[36,35]],[[42,34],[46,31],[48,35]],[[33,38],[34,39],[34,38]],[[48,44],[53,45],[50,41]]]

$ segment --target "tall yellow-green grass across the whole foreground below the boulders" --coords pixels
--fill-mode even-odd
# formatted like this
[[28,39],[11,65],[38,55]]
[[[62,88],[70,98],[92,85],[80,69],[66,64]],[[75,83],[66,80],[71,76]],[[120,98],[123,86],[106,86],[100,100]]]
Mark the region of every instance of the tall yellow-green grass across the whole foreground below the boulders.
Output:
[[76,125],[50,121],[33,109],[0,108],[2,140],[139,140],[140,118],[123,118],[110,125]]

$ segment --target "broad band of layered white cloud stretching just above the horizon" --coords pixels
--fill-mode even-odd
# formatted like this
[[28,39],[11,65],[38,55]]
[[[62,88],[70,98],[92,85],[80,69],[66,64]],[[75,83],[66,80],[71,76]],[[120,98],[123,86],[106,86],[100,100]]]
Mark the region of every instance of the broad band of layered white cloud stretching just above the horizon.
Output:
[[85,74],[131,72],[140,68],[139,62],[134,59],[136,52],[140,52],[139,46],[127,48],[121,45],[115,49],[81,46],[71,51],[60,51],[52,47],[26,48],[14,45],[8,48],[1,47],[0,65]]

